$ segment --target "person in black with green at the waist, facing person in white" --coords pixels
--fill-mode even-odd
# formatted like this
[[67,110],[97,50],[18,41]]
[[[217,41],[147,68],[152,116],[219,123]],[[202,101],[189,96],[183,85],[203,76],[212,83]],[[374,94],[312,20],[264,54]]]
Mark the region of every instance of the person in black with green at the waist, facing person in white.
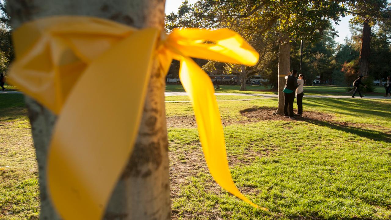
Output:
[[[284,92],[284,117],[289,117],[290,119],[294,119],[294,113],[293,113],[293,102],[294,102],[294,95],[295,90],[298,87],[297,84],[297,70],[292,70],[292,74],[289,76],[286,76],[285,79],[287,79],[287,83],[285,84],[285,88],[283,90]],[[289,105],[289,115],[288,115],[288,105]]]

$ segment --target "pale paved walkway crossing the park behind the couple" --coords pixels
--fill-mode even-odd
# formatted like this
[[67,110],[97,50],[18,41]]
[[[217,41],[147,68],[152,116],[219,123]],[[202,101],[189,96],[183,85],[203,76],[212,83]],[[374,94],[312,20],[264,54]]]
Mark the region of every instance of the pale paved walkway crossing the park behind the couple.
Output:
[[[0,94],[20,94],[22,92],[19,91],[0,91]],[[187,96],[186,92],[165,92],[165,96]],[[263,97],[263,98],[276,98],[278,97],[277,94],[248,94],[248,93],[215,93],[216,96],[257,96],[257,97]],[[311,98],[335,98],[335,99],[351,99],[351,96],[310,96],[305,95],[304,97],[311,97]],[[357,98],[360,98],[360,96],[356,96]],[[364,99],[391,99],[391,97],[383,97],[383,96],[365,96]],[[222,101],[246,101],[246,100],[253,100],[253,99],[232,99],[232,100],[222,100]],[[178,101],[169,101],[169,102],[178,102]],[[187,102],[187,101],[183,101]]]

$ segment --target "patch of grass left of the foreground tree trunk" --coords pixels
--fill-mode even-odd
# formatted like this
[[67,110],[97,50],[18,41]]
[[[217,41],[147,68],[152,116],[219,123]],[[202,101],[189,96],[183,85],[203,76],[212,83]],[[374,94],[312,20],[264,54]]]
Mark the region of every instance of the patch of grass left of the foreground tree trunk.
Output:
[[0,176],[0,219],[38,219],[38,171],[22,94],[0,94]]

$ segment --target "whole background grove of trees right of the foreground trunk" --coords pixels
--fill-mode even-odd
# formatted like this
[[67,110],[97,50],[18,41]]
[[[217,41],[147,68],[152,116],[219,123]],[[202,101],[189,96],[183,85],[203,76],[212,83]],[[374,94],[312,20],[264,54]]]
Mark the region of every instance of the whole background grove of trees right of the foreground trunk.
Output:
[[[323,84],[350,86],[362,74],[367,81],[390,72],[390,3],[386,0],[202,0],[184,1],[177,13],[166,15],[166,30],[177,27],[233,29],[260,53],[254,67],[220,65],[209,61],[205,70],[235,74],[246,90],[246,80],[261,75],[278,89],[282,112],[284,77],[300,66],[300,41],[304,41],[303,64],[307,85],[320,77]],[[333,23],[347,14],[352,38],[337,44]],[[361,27],[361,30],[358,29]]]

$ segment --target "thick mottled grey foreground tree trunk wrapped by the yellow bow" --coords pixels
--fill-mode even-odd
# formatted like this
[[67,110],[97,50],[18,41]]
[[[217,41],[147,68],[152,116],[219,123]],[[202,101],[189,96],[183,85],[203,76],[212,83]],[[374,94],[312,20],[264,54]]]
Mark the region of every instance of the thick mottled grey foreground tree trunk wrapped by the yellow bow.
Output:
[[[70,14],[111,19],[133,27],[163,30],[165,0],[19,0],[8,1],[11,26],[46,16]],[[118,180],[105,219],[170,219],[168,141],[164,76],[154,61],[135,149]],[[102,85],[103,86],[103,85]],[[60,219],[47,195],[46,160],[56,116],[26,97],[38,161],[40,219]],[[129,100],[124,100],[129,101]]]

